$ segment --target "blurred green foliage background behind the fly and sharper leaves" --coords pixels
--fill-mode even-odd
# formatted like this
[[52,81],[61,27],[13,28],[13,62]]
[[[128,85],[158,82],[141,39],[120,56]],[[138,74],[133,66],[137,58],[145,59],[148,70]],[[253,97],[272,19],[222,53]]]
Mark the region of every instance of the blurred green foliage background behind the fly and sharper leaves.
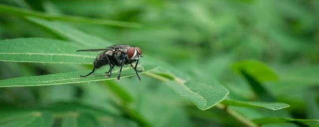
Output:
[[[277,101],[291,107],[276,112],[240,107],[237,110],[243,116],[319,119],[318,0],[0,0],[0,3],[52,15],[139,23],[141,27],[130,28],[63,22],[113,44],[139,46],[143,54],[169,63],[190,77],[216,80],[233,98],[254,100],[254,93],[231,65],[258,60],[268,64],[279,77],[278,81],[263,86]],[[1,40],[26,37],[66,40],[23,17],[0,13]],[[91,67],[0,62],[0,79]],[[0,107],[76,102],[120,116],[120,122],[115,122],[117,126],[125,127],[121,123],[126,122],[139,126],[125,109],[116,105],[103,83],[0,88]],[[116,83],[130,93],[134,98],[130,105],[152,126],[245,126],[216,108],[198,110],[160,81],[147,76],[142,76],[142,82],[133,77],[109,83]],[[297,127],[285,123],[267,126]]]

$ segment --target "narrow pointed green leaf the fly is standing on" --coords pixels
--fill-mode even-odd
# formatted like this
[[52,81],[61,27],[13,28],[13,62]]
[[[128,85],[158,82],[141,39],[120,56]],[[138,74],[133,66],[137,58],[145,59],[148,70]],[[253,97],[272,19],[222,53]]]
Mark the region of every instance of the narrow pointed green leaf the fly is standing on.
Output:
[[[144,65],[143,74],[145,72],[154,70],[157,68],[153,65]],[[119,73],[119,70],[114,71],[111,77],[105,77],[106,69],[99,69],[94,74],[88,77],[80,77],[80,75],[84,75],[90,72],[90,70],[85,71],[74,71],[74,72],[65,72],[65,73],[56,73],[56,74],[48,74],[48,75],[40,75],[40,76],[27,76],[27,77],[17,77],[0,80],[0,87],[22,87],[22,86],[47,86],[47,85],[60,85],[60,84],[72,84],[72,83],[88,83],[93,81],[104,81],[104,80],[112,80],[116,79]],[[121,77],[130,77],[135,76],[136,73],[133,68],[123,67]]]

